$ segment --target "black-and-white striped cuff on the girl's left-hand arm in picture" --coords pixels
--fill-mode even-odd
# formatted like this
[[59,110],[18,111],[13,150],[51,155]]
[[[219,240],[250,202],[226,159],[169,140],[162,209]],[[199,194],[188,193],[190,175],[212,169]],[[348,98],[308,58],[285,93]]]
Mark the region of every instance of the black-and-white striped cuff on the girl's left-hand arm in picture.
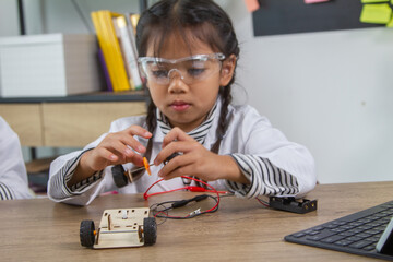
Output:
[[76,158],[69,159],[66,165],[49,180],[50,195],[53,199],[62,200],[73,195],[79,195],[92,188],[96,182],[103,178],[103,171],[94,174],[92,177],[69,188],[68,181],[71,180],[72,175],[81,159],[81,156],[86,151],[82,152]]

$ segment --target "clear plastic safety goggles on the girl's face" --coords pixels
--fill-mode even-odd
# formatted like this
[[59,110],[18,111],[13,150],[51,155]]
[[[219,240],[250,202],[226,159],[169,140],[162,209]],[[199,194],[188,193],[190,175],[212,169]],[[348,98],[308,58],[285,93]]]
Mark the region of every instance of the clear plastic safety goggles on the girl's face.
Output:
[[177,74],[186,84],[206,80],[221,70],[224,59],[223,53],[216,52],[180,59],[141,57],[138,61],[147,81],[167,85]]

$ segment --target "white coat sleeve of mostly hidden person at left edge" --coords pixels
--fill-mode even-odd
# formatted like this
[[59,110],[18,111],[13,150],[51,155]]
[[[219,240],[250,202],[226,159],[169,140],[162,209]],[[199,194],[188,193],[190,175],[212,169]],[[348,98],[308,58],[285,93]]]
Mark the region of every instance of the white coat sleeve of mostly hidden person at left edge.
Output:
[[0,200],[29,198],[32,194],[17,134],[0,117]]

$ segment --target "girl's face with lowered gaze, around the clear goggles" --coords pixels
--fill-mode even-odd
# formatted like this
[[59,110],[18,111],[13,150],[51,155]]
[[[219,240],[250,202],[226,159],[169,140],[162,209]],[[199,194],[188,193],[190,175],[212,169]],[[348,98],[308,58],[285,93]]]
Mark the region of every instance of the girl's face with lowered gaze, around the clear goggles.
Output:
[[[190,48],[181,38],[172,35],[165,41],[160,49],[159,57],[163,59],[181,59],[195,55],[212,55],[216,51],[212,50],[210,46],[198,39],[192,39],[192,46]],[[148,46],[146,57],[154,57],[153,44]],[[158,109],[168,118],[172,127],[179,127],[184,132],[189,132],[205,120],[206,115],[215,104],[219,86],[226,86],[231,80],[235,61],[235,56],[223,62],[216,60],[215,67],[218,67],[217,70],[213,70],[213,73],[209,76],[193,81],[191,84],[186,83],[189,82],[186,79],[181,79],[184,70],[179,67],[178,71],[174,66],[174,69],[169,70],[172,71],[169,72],[169,83],[160,84],[147,79],[147,87],[152,99]],[[183,62],[180,64],[183,64]],[[155,72],[159,73],[159,69]],[[166,72],[168,71],[166,70]]]

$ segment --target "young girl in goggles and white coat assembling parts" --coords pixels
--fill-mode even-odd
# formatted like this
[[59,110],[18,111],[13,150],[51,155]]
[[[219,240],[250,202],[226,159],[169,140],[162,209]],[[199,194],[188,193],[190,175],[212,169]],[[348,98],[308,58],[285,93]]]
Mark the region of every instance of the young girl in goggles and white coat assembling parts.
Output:
[[[112,122],[109,133],[56,159],[48,194],[57,202],[88,204],[103,192],[143,193],[184,187],[194,176],[239,196],[303,195],[315,184],[314,163],[250,106],[230,105],[239,58],[227,14],[211,0],[163,0],[136,28],[141,70],[151,103],[147,116]],[[180,155],[163,164],[174,153]],[[111,167],[151,163],[117,188]],[[193,183],[193,182],[192,182]]]

